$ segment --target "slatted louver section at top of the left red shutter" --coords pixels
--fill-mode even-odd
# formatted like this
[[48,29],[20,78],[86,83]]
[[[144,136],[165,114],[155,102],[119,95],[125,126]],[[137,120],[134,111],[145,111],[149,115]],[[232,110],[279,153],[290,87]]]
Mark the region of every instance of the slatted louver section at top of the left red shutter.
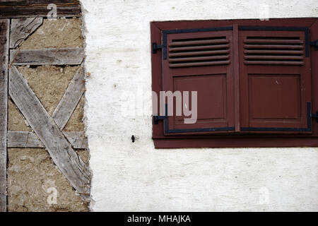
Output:
[[229,47],[226,37],[172,40],[169,44],[169,66],[179,68],[229,64]]

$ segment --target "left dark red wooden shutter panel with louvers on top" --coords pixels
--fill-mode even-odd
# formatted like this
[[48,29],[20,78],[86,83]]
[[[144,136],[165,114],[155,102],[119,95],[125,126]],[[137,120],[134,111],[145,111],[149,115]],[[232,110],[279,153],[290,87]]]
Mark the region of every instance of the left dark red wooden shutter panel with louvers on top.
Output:
[[183,110],[176,116],[174,100],[165,135],[234,131],[232,61],[232,27],[163,31],[163,90],[197,91],[196,123],[184,124]]

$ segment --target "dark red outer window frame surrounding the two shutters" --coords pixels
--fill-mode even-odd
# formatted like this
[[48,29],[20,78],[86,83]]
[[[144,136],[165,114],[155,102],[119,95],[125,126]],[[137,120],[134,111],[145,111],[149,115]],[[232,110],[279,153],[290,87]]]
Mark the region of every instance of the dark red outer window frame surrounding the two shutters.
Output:
[[[228,27],[233,28],[233,41],[238,42],[238,28],[307,28],[309,40],[318,39],[318,19],[317,18],[288,18],[288,19],[271,19],[271,20],[196,20],[196,21],[169,21],[169,22],[152,22],[151,23],[151,43],[161,44],[163,42],[163,32],[165,30],[187,30],[201,28],[218,28]],[[248,30],[248,29],[247,29]],[[307,46],[307,48],[309,48]],[[234,71],[242,70],[240,67],[239,45],[235,44],[232,47],[235,57],[233,57]],[[311,105],[307,105],[306,109],[310,113],[318,111],[318,51],[314,47],[306,49],[310,54],[311,65]],[[161,49],[158,49],[157,54],[151,54],[152,64],[152,88],[155,93],[163,90],[163,54]],[[240,77],[234,78],[234,105],[240,105],[240,98],[243,98],[240,92]],[[305,99],[304,99],[305,100]],[[304,107],[302,107],[304,110]],[[158,121],[158,124],[153,124],[153,141],[155,148],[245,148],[245,147],[317,147],[318,146],[318,122],[316,119],[307,115],[306,125],[310,126],[311,133],[293,134],[289,131],[286,133],[254,133],[254,130],[247,129],[247,133],[238,133],[242,131],[240,121],[242,115],[240,112],[235,113],[235,129],[232,133],[219,134],[169,134],[164,131],[164,121]],[[302,112],[303,113],[303,112]],[[243,119],[244,121],[244,119]],[[257,124],[257,121],[256,123]],[[302,124],[304,124],[302,122]],[[309,128],[309,127],[308,127]],[[256,129],[257,130],[257,129]]]

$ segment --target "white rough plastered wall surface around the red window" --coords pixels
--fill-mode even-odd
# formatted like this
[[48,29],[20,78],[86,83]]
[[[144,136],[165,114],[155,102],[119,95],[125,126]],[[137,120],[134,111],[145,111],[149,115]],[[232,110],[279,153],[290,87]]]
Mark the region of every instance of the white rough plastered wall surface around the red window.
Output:
[[[92,210],[318,210],[318,148],[155,150],[151,139],[150,22],[260,18],[259,1],[81,3]],[[261,4],[271,18],[318,16],[315,0]]]

